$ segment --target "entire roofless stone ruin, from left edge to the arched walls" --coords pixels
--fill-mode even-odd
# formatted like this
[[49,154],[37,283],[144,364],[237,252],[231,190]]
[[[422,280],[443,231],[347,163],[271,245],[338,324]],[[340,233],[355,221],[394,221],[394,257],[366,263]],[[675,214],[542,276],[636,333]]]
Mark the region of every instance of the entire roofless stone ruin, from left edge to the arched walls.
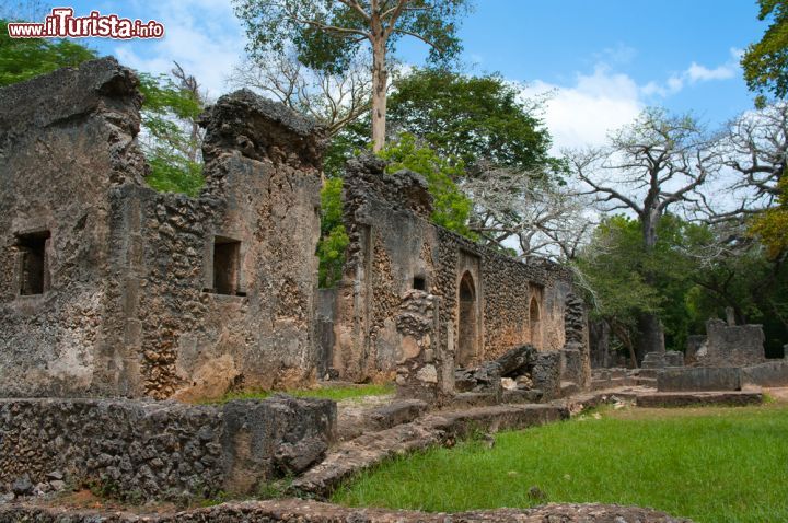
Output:
[[522,344],[588,381],[565,268],[433,225],[424,179],[364,156],[344,278],[317,300],[321,128],[223,96],[204,115],[205,188],[160,194],[137,88],[107,58],[0,90],[0,396],[194,399],[316,370],[450,396],[456,367]]

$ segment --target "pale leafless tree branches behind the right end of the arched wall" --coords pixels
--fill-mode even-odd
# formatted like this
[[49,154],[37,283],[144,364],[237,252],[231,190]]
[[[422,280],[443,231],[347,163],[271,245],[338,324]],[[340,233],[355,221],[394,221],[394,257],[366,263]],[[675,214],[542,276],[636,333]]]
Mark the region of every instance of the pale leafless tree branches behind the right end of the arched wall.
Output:
[[471,230],[501,248],[517,245],[523,258],[573,259],[593,228],[588,198],[541,173],[486,168],[462,188],[474,202]]

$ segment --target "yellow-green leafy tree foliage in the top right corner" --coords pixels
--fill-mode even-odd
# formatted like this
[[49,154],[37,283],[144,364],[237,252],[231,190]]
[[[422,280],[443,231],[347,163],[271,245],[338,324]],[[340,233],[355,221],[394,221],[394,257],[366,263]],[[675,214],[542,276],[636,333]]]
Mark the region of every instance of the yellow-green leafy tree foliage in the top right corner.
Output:
[[746,48],[741,65],[748,88],[761,93],[756,105],[763,106],[765,93],[777,98],[788,94],[788,0],[758,0],[758,20],[772,23],[761,40]]

